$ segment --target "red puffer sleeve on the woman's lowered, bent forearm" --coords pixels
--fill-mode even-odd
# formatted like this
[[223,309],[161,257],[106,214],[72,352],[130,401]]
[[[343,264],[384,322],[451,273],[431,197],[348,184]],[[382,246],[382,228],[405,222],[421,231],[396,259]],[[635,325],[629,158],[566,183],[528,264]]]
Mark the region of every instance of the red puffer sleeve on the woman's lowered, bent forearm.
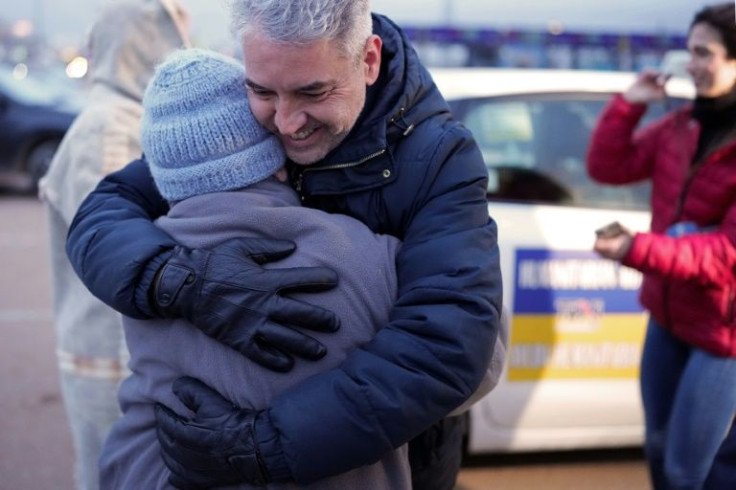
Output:
[[670,237],[637,233],[622,262],[643,273],[703,286],[723,286],[736,268],[736,203],[713,231]]

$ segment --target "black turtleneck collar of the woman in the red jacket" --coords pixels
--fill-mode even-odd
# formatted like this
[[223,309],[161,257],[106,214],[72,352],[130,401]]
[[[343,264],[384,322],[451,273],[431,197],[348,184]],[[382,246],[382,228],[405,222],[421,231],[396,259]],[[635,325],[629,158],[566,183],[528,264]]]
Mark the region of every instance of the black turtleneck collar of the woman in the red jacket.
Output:
[[719,97],[697,97],[692,116],[702,128],[693,157],[695,163],[716,147],[736,138],[736,85]]

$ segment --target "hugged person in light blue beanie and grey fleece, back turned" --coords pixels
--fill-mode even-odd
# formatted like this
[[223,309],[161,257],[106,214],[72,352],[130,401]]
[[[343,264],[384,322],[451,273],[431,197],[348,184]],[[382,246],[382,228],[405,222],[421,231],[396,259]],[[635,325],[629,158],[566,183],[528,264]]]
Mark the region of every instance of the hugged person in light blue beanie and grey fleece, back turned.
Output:
[[[396,298],[399,240],[375,234],[353,218],[301,206],[285,182],[284,150],[253,117],[244,81],[238,62],[200,49],[180,50],[157,69],[143,98],[141,139],[155,184],[172,207],[156,224],[198,249],[240,236],[293,240],[298,252],[278,267],[328,266],[340,277],[338,288],[294,297],[336,312],[345,327],[315,334],[327,346],[319,363],[297,363],[283,374],[248,360],[185,320],[124,317],[132,375],[120,389],[123,417],[100,461],[100,482],[106,489],[183,485],[164,464],[156,437],[156,404],[190,416],[197,412],[197,402],[184,404],[175,393],[197,385],[222,410],[210,412],[212,416],[226,416],[233,404],[266,408],[272,397],[339,365],[350,350],[371,340],[376,326],[386,324]],[[237,242],[230,243],[232,254],[244,253]],[[268,488],[301,487],[282,483]],[[407,446],[309,488],[408,490]]]

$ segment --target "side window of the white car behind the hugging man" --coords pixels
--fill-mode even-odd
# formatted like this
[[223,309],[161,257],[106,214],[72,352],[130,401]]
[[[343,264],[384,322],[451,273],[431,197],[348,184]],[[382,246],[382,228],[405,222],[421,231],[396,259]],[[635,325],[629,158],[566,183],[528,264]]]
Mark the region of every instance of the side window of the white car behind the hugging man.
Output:
[[[590,134],[610,94],[553,94],[453,101],[489,170],[491,200],[648,209],[648,182],[607,186],[585,169]],[[684,103],[669,101],[669,107]],[[655,104],[641,124],[661,117]]]

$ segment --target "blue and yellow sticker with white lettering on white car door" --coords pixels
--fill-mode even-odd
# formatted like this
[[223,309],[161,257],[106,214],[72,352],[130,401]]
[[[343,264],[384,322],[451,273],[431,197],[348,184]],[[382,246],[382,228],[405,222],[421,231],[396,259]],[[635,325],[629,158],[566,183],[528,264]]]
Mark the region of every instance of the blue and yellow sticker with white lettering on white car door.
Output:
[[594,252],[517,249],[508,380],[638,377],[641,280]]

